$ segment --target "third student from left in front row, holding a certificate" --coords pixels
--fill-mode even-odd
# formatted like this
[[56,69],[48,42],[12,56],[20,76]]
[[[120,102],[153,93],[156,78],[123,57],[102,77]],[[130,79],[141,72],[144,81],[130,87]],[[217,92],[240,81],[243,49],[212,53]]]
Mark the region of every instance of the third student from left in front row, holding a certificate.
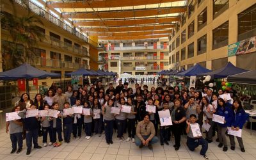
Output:
[[[48,104],[45,104],[43,107],[43,110],[49,110],[51,107]],[[48,145],[52,145],[52,130],[50,125],[49,116],[42,116],[41,118],[42,122],[42,134],[43,134],[43,143],[44,147],[47,147],[47,134],[49,133],[50,142]]]

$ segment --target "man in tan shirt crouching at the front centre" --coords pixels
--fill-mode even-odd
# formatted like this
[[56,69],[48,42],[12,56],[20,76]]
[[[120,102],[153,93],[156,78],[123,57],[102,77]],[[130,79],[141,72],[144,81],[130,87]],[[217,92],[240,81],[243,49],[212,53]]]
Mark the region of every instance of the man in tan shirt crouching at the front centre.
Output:
[[156,131],[154,124],[150,122],[149,115],[144,116],[144,120],[138,123],[136,128],[135,144],[142,148],[148,146],[152,150],[152,144],[157,143],[158,138],[155,136]]

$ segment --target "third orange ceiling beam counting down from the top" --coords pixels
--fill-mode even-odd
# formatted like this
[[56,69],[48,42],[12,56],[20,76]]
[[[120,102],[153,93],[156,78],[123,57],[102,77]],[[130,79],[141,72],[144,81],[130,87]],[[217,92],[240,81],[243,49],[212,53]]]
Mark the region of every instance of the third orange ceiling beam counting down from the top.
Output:
[[163,24],[180,21],[180,17],[164,17],[151,19],[127,19],[127,20],[90,20],[74,22],[75,26],[133,26],[136,24]]

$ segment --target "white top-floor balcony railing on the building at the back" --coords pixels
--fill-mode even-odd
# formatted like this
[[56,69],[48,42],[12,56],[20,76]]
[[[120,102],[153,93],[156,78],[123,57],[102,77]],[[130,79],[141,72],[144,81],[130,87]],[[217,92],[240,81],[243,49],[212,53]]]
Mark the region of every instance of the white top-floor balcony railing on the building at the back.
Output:
[[106,47],[107,51],[126,51],[126,50],[152,50],[152,49],[168,49],[168,45],[150,45],[150,46],[131,46],[131,47]]

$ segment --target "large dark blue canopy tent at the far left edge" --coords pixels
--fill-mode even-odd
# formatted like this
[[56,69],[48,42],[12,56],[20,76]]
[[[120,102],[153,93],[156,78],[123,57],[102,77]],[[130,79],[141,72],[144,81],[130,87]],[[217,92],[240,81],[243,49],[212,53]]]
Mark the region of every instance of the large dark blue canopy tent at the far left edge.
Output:
[[16,80],[26,79],[26,91],[29,93],[28,80],[33,78],[45,78],[45,77],[61,77],[61,74],[52,72],[45,72],[38,68],[32,67],[28,63],[24,63],[17,68],[0,72],[0,80]]

